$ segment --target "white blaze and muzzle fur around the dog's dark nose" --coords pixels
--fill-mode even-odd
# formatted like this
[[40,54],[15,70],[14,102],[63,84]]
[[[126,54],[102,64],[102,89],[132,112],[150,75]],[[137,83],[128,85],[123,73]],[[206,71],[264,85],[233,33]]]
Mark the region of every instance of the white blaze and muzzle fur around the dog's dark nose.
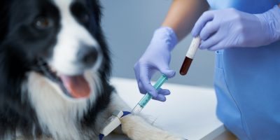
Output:
[[64,75],[82,73],[83,71],[78,66],[77,54],[80,45],[84,44],[97,49],[99,56],[95,67],[99,67],[103,57],[100,46],[90,32],[71,15],[70,5],[72,1],[54,0],[54,3],[60,11],[61,29],[57,35],[57,44],[54,47],[52,59],[49,60],[50,65]]

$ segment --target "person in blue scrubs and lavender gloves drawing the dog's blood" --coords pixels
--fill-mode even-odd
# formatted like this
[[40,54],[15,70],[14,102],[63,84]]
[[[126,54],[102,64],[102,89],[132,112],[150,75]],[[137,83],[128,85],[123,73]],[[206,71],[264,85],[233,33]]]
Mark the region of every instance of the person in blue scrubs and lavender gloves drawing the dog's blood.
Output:
[[[151,77],[168,78],[175,45],[191,31],[216,51],[217,116],[239,139],[280,139],[280,1],[174,0],[162,27],[134,66],[141,93],[164,102]],[[211,10],[209,10],[211,8]]]

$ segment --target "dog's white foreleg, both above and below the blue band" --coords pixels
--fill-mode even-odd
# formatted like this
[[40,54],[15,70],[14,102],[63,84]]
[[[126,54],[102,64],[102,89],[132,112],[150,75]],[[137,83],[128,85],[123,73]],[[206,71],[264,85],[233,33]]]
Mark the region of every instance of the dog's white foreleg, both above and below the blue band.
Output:
[[[131,109],[125,104],[118,94],[113,93],[111,96],[111,102],[106,111],[103,111],[96,120],[96,130],[102,129],[104,122],[106,121],[113,111],[131,111]],[[130,139],[134,140],[183,140],[181,137],[177,137],[174,134],[170,134],[165,130],[160,130],[158,127],[148,123],[146,119],[137,115],[128,115],[121,120],[123,133],[127,134]],[[117,130],[118,131],[118,130]],[[115,131],[116,132],[116,131]],[[119,133],[119,132],[117,132]]]

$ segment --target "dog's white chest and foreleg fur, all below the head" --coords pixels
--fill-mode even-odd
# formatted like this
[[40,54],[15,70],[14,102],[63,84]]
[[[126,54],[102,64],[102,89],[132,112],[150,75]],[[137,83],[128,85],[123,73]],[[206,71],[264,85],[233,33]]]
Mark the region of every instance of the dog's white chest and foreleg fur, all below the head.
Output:
[[[94,85],[91,89],[93,88],[97,92],[97,90],[102,89],[102,86],[98,85],[100,81],[98,78],[93,78],[92,74],[92,72],[87,72],[85,76],[90,85]],[[43,132],[50,133],[54,139],[83,139],[79,132],[80,126],[76,123],[83,117],[89,105],[95,102],[97,94],[93,92],[90,99],[80,99],[74,102],[59,96],[58,94],[61,94],[59,92],[62,91],[48,78],[35,72],[31,72],[28,77],[29,100],[36,111]],[[87,102],[90,102],[90,104],[87,104]],[[113,93],[109,107],[99,113],[95,128],[90,131],[98,134],[99,130],[104,127],[106,119],[116,110],[130,111],[131,109],[123,102],[123,99],[120,99],[118,94]],[[154,127],[140,116],[125,116],[121,122],[123,132],[134,140],[183,140]]]

